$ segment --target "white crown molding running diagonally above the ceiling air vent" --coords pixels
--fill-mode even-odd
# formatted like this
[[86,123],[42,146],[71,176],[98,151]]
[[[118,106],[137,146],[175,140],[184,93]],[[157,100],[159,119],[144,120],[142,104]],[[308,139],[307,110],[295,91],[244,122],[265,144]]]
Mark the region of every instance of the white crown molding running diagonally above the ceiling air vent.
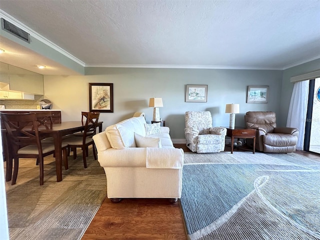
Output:
[[76,63],[78,63],[84,67],[85,63],[83,61],[76,58],[75,56],[73,56],[72,54],[70,54],[69,52],[64,50],[63,48],[61,48],[58,45],[51,42],[50,40],[46,39],[45,37],[43,37],[42,35],[40,35],[36,31],[32,30],[30,27],[24,25],[22,22],[18,21],[17,19],[15,19],[11,15],[7,14],[5,11],[3,11],[1,9],[0,9],[0,17],[6,19],[7,21],[11,22],[15,26],[17,26],[17,27],[21,28],[22,30],[26,31],[27,33],[29,33],[35,39],[41,41],[42,43],[46,44],[47,46],[51,47],[52,49],[65,55],[66,57],[70,58],[71,60],[75,61]]

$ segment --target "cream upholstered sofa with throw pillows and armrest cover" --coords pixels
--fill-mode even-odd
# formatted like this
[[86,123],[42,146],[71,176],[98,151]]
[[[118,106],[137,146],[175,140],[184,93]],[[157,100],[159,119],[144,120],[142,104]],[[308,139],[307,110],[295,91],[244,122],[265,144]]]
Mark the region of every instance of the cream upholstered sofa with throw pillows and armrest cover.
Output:
[[107,181],[107,197],[181,196],[183,150],[174,148],[169,128],[146,124],[143,116],[106,127],[93,136]]

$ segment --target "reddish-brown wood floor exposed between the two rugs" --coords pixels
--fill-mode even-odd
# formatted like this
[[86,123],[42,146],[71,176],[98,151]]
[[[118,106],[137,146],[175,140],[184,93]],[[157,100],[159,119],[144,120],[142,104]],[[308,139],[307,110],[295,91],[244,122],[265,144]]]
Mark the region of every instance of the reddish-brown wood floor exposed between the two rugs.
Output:
[[[189,151],[185,144],[174,146]],[[230,151],[227,146],[225,150]],[[320,155],[305,151],[296,153],[320,161]],[[81,239],[186,239],[180,202],[130,198],[112,203],[105,198]]]

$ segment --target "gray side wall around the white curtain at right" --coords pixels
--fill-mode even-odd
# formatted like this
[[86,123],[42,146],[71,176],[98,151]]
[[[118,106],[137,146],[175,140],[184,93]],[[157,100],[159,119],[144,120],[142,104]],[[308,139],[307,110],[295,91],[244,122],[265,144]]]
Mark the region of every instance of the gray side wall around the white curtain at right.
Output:
[[290,105],[291,94],[293,90],[293,82],[290,82],[290,77],[302,75],[304,73],[312,72],[320,69],[320,58],[309,61],[294,67],[283,70],[282,77],[282,91],[279,101],[280,112],[277,115],[277,124],[281,126],[286,125],[286,118],[288,115],[288,109]]

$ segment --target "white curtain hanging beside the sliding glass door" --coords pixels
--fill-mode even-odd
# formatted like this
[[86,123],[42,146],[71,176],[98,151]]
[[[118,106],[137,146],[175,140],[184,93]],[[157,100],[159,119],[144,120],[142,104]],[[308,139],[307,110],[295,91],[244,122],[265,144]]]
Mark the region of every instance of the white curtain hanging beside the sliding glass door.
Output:
[[299,136],[296,144],[297,150],[303,150],[308,94],[308,80],[294,83],[286,126],[299,129]]

